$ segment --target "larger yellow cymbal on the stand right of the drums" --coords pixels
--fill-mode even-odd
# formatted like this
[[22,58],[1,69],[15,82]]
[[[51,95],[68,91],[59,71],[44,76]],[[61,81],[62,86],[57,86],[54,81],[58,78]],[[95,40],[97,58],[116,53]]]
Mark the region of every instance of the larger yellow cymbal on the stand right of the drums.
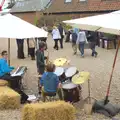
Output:
[[79,72],[72,78],[72,82],[74,84],[83,84],[87,80],[89,80],[90,73],[89,72]]

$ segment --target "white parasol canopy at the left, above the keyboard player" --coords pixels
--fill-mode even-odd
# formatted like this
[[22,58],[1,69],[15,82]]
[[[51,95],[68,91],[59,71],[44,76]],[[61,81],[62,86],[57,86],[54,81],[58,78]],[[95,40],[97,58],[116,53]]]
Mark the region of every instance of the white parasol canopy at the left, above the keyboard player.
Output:
[[47,37],[48,32],[40,29],[14,15],[0,16],[1,38],[37,38]]

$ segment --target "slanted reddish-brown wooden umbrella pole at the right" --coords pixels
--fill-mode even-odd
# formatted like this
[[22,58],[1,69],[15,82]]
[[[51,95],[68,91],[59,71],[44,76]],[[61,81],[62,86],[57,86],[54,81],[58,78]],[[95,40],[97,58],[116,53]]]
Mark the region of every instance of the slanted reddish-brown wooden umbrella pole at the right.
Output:
[[117,50],[116,50],[116,53],[115,53],[114,62],[113,62],[113,66],[112,66],[112,71],[111,71],[111,75],[110,75],[109,85],[108,85],[108,88],[107,88],[107,94],[106,94],[104,104],[108,103],[108,96],[109,96],[109,93],[110,93],[110,86],[111,86],[111,82],[112,82],[112,76],[113,76],[113,72],[114,72],[114,68],[115,68],[115,63],[116,63],[119,47],[120,47],[120,40],[118,42]]

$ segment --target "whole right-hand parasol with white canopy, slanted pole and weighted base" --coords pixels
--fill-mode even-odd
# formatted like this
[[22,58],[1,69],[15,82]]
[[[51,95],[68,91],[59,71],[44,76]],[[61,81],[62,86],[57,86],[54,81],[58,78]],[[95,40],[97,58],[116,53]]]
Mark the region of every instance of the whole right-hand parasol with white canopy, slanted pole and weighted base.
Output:
[[[73,20],[63,21],[64,23],[71,25],[75,28],[80,28],[83,30],[95,31],[95,32],[103,32],[110,33],[120,36],[120,11],[111,12],[108,14],[97,15],[86,18],[79,18]],[[115,68],[116,58],[118,54],[118,49],[120,47],[120,38],[118,37],[118,47],[116,49],[116,54],[113,62],[112,71],[110,74],[110,80],[107,88],[107,93],[104,100],[96,101],[93,108],[95,112],[108,113],[110,117],[116,115],[120,108],[115,107],[114,105],[109,103],[110,96],[110,87],[112,83],[112,76]]]

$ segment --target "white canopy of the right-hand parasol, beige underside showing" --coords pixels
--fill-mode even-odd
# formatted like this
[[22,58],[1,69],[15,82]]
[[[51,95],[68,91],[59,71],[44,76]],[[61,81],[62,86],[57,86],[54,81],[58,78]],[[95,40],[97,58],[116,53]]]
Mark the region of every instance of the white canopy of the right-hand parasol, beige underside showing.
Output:
[[120,35],[120,11],[63,22],[83,30]]

